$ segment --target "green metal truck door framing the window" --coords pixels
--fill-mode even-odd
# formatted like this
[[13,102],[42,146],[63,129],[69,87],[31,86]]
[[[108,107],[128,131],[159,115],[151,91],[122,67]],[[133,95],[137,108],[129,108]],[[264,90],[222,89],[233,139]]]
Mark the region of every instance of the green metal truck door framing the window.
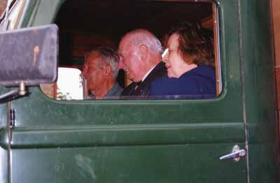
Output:
[[[40,2],[33,11],[27,4],[36,12],[27,25],[52,22],[61,4]],[[218,97],[57,101],[30,87],[29,97],[0,105],[0,114],[15,115],[3,182],[7,176],[10,182],[247,182],[246,157],[220,159],[234,147],[246,149],[239,9],[237,0],[214,3],[223,80]],[[7,151],[2,147],[1,156]]]

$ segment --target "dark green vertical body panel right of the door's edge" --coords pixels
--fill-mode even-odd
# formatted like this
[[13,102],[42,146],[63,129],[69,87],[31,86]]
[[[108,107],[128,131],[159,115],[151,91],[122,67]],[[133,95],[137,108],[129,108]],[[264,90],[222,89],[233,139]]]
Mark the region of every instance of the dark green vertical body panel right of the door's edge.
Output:
[[242,67],[251,182],[276,182],[276,94],[270,1],[241,5]]

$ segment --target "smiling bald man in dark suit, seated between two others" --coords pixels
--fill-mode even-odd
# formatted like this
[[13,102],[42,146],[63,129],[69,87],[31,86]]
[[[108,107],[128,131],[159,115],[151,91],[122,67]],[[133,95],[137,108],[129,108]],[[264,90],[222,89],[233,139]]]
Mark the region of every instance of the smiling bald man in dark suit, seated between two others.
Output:
[[161,53],[162,44],[146,29],[136,29],[123,36],[119,44],[118,67],[124,69],[133,83],[123,90],[121,98],[148,98],[151,83],[167,76]]

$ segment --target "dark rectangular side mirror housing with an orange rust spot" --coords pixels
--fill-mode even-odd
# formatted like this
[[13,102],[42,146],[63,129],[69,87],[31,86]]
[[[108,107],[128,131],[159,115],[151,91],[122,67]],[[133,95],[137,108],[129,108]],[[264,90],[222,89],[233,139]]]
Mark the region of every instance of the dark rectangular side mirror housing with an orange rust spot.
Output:
[[56,25],[0,32],[0,86],[25,87],[54,82],[57,79],[57,32]]

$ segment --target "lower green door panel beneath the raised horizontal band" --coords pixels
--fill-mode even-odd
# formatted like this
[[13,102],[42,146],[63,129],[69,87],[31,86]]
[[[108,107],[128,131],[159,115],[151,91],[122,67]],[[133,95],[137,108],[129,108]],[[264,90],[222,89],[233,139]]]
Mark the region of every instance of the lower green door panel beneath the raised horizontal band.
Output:
[[14,149],[12,182],[234,182],[245,159],[212,161],[232,145]]

